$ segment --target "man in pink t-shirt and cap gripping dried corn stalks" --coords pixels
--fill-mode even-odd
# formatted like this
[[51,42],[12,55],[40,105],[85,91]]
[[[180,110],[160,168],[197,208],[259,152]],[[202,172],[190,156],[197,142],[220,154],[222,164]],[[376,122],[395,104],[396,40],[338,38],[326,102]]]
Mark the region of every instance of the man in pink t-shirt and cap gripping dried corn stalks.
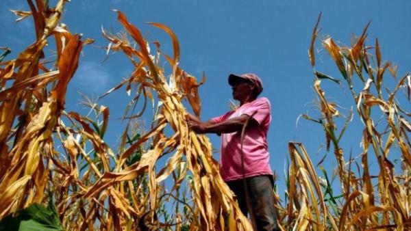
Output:
[[256,74],[230,74],[228,83],[240,107],[207,122],[188,114],[188,127],[195,133],[221,135],[220,173],[236,195],[242,213],[247,216],[250,212],[258,230],[279,230],[266,141],[271,122],[270,102],[257,98],[262,92],[262,81]]

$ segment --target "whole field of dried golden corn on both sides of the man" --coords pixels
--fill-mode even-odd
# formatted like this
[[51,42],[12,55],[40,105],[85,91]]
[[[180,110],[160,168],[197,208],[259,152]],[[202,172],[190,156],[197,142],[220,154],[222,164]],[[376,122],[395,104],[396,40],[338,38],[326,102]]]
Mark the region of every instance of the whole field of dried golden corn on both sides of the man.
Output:
[[[67,1],[54,6],[43,0],[27,3],[31,11],[13,12],[18,21],[34,18],[36,40],[15,59],[7,60],[10,49],[4,48],[0,56],[0,230],[9,230],[6,221],[44,205],[50,219],[25,219],[20,227],[35,223],[47,230],[252,230],[219,175],[210,140],[188,130],[187,109],[200,115],[198,87],[205,77],[199,82],[180,68],[173,31],[150,23],[169,35],[172,55],[163,53],[158,42],[152,47],[120,11],[117,19],[124,30],[102,31],[107,52],[123,53],[134,66],[128,79],[101,96],[123,88],[135,94],[125,109],[119,148],[112,150],[104,141],[108,107],[84,101],[93,118],[65,110],[67,86],[82,47],[93,40],[60,23]],[[275,195],[281,228],[411,230],[411,74],[397,77],[395,66],[383,62],[378,40],[366,46],[369,25],[351,46],[340,46],[329,36],[318,38],[319,21],[320,16],[309,58],[321,118],[302,117],[322,126],[327,150],[334,151],[342,195],[333,195],[327,173],[323,171],[325,180],[320,178],[321,165],[312,163],[303,144],[290,142],[286,200],[282,203]],[[341,80],[316,70],[317,43],[335,62]],[[47,44],[55,45],[53,62],[43,51]],[[397,83],[394,89],[384,84],[388,74]],[[354,109],[343,127],[337,125],[344,120],[338,105],[321,89],[325,81],[342,85],[352,96]],[[136,119],[149,105],[154,105],[153,119],[146,121],[148,131],[139,133]],[[353,116],[364,125],[360,161],[347,157],[339,145]],[[390,150],[396,148],[401,169],[390,161]],[[369,172],[371,155],[377,159],[377,176]],[[162,158],[168,160],[159,166]],[[166,187],[166,181],[173,182],[172,187]]]

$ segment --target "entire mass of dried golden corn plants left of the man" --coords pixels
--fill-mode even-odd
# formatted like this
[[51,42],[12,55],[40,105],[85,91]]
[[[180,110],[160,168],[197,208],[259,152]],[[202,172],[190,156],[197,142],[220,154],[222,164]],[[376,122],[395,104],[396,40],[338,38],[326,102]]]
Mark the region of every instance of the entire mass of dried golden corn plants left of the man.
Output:
[[[113,152],[103,141],[110,114],[107,107],[86,102],[96,112],[97,121],[63,111],[67,84],[77,68],[82,45],[90,40],[82,42],[80,36],[58,26],[65,1],[59,1],[55,8],[49,8],[47,1],[27,2],[31,12],[13,12],[21,16],[18,21],[34,17],[36,42],[16,59],[1,63],[0,187],[4,190],[0,192],[0,218],[30,204],[47,202],[49,191],[67,230],[158,230],[171,226],[250,230],[249,221],[219,176],[210,142],[188,131],[182,100],[188,100],[199,115],[199,84],[179,68],[179,46],[173,32],[153,23],[173,38],[175,55],[166,56],[173,70],[169,83],[159,65],[159,50],[152,56],[147,41],[121,12],[119,21],[140,49],[134,49],[127,36],[104,34],[112,44],[110,48],[124,51],[135,67],[132,77],[121,83],[127,84],[127,92],[132,85],[138,89],[126,111],[135,107],[140,95],[145,105],[147,98],[153,100],[153,94],[159,103],[151,131],[132,131],[129,137],[132,120],[142,115],[144,105],[140,113],[132,114],[119,152]],[[55,38],[57,58],[47,65],[42,62],[42,49],[49,36]],[[169,128],[174,133],[167,136],[164,130]],[[156,161],[169,153],[173,155],[168,163],[156,172]],[[182,187],[188,172],[192,180]],[[175,182],[170,190],[163,185],[169,176]],[[186,189],[190,189],[192,200],[187,200]],[[164,200],[171,198],[177,202],[175,215],[160,219],[162,212],[169,213]],[[184,213],[180,213],[182,208]]]

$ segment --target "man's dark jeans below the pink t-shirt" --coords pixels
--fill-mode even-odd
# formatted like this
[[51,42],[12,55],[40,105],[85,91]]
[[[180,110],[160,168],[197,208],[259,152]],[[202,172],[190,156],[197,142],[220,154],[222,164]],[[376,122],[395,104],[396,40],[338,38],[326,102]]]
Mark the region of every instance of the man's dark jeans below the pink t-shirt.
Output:
[[[277,211],[274,206],[273,176],[251,176],[245,178],[245,180],[247,182],[250,209],[252,209],[256,219],[257,230],[279,230]],[[226,183],[236,194],[241,212],[247,216],[249,210],[247,209],[244,180],[230,180]]]

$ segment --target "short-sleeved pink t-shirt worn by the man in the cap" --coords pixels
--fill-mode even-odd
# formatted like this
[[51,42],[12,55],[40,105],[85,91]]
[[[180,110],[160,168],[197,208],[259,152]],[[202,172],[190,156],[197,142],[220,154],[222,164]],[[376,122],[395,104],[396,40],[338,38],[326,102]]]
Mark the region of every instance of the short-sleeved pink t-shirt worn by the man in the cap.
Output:
[[[256,112],[253,119],[259,125],[247,128],[242,144],[245,177],[273,174],[266,140],[271,122],[270,111],[270,101],[262,97],[241,105],[236,111],[229,111],[223,116],[212,118],[213,122],[221,123],[242,114],[252,116]],[[242,178],[241,131],[221,135],[220,173],[225,181]]]

